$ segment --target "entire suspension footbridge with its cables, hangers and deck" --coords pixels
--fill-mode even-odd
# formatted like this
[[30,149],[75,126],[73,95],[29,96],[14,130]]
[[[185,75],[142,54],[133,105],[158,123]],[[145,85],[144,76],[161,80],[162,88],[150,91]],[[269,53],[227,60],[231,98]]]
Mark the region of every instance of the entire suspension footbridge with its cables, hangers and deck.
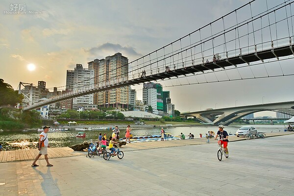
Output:
[[[165,79],[180,83],[180,78],[194,77],[199,84],[294,75],[285,74],[281,66],[281,74],[271,74],[266,68],[266,64],[270,61],[293,58],[294,1],[266,0],[265,9],[256,12],[254,7],[257,1],[252,0],[171,44],[122,65],[122,68],[127,68],[127,73],[112,77],[97,75],[98,78],[107,79],[97,79],[99,82],[87,86],[76,83],[73,91],[31,104],[23,110],[32,110],[87,94]],[[252,70],[253,63],[263,65],[266,74],[255,75]],[[241,68],[248,69],[252,76],[242,75]],[[227,78],[218,78],[216,74],[218,72],[224,72]],[[214,74],[214,80],[205,79],[201,82],[199,78],[205,78],[207,74]],[[172,84],[175,85],[182,84]]]

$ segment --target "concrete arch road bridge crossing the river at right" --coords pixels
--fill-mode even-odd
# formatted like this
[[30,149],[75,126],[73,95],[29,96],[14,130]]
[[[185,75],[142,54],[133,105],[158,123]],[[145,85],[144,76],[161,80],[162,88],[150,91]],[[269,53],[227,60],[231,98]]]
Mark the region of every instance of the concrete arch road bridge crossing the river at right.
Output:
[[274,111],[294,116],[294,101],[246,105],[230,108],[211,109],[181,113],[181,117],[195,117],[202,123],[228,125],[249,114],[262,111]]

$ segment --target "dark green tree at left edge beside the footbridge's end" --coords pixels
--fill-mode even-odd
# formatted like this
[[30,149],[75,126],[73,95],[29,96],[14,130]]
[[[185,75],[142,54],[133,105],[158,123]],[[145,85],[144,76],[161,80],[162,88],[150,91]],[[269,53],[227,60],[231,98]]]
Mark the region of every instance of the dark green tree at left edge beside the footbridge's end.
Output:
[[24,96],[18,94],[17,91],[14,91],[10,84],[4,82],[3,79],[0,79],[0,106],[1,105],[17,105],[23,101]]

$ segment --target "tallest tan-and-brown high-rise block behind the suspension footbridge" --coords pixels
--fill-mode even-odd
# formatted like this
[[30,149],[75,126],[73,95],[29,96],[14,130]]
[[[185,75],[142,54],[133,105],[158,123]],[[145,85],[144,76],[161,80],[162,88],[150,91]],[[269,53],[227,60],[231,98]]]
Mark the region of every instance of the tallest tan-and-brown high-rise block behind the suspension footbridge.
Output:
[[[95,59],[88,65],[89,69],[94,69],[96,86],[128,80],[128,58],[121,53],[106,56],[105,59]],[[128,108],[129,87],[98,92],[94,102],[98,107]]]

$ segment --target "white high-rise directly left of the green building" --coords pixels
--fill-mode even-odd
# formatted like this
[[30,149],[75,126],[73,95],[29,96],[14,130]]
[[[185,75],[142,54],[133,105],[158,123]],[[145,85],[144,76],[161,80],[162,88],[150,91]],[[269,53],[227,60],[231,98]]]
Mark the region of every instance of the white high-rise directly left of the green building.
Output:
[[143,84],[143,102],[151,106],[153,113],[157,111],[157,89],[154,83]]

